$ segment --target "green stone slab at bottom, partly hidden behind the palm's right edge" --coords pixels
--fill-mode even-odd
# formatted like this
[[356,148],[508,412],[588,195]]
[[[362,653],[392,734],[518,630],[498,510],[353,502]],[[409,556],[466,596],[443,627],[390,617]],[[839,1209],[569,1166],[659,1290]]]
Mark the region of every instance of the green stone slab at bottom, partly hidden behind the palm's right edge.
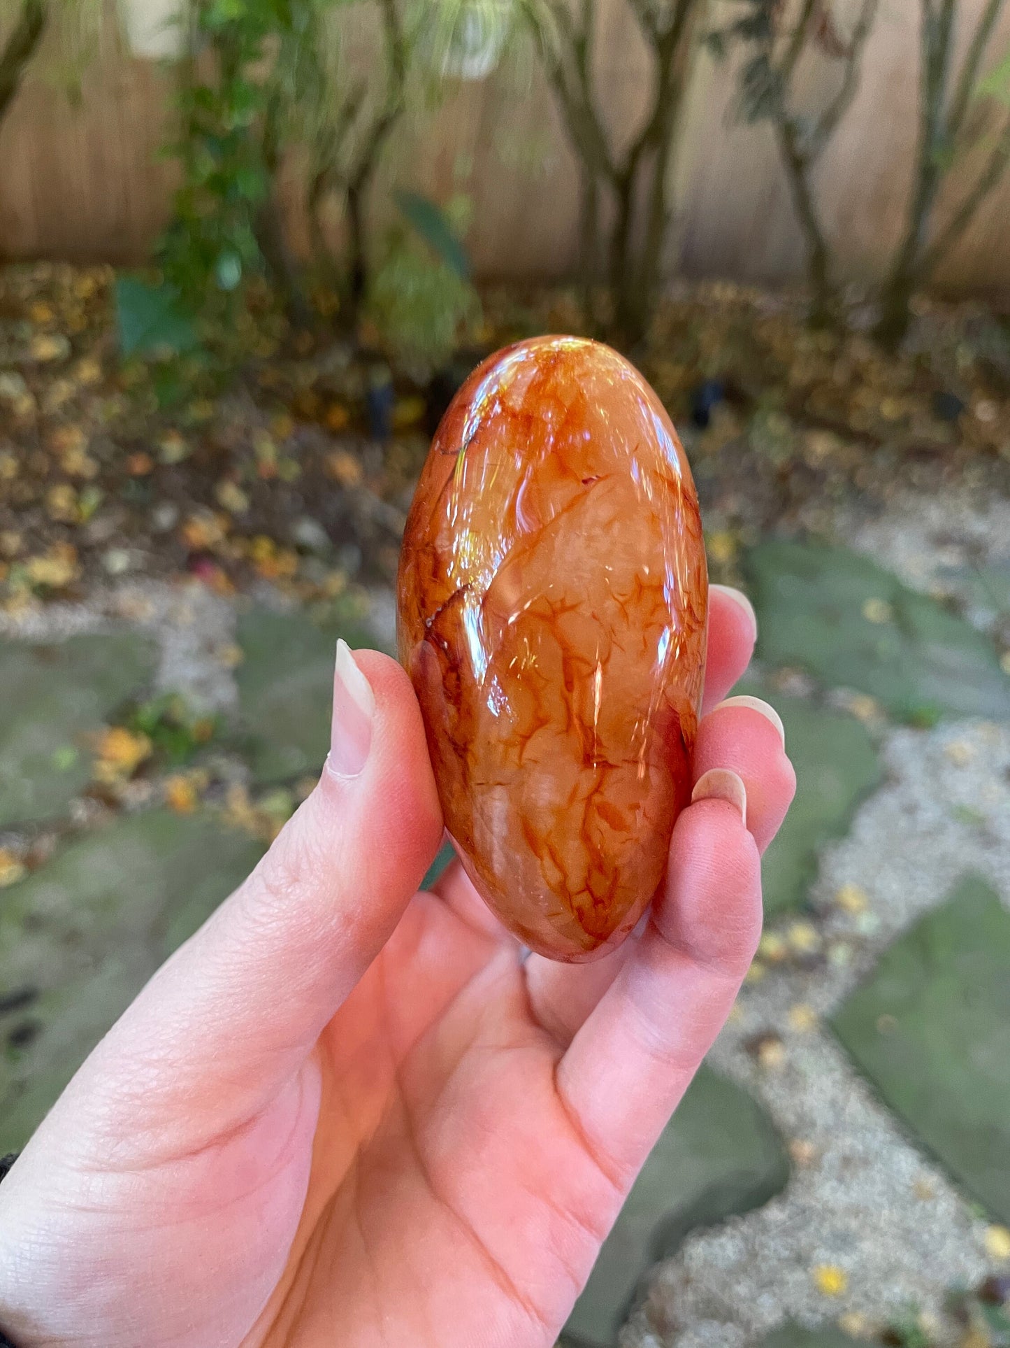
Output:
[[761,1105],[702,1068],[629,1193],[564,1337],[606,1348],[617,1340],[649,1267],[684,1236],[768,1202],[789,1162]]

